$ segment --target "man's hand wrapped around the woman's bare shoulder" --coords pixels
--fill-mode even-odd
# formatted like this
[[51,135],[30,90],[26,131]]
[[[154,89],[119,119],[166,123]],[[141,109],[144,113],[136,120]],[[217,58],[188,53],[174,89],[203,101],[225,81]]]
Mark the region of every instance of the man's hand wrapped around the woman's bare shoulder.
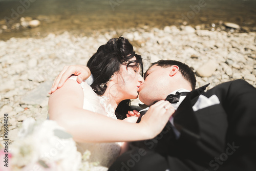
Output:
[[76,80],[78,83],[81,83],[82,80],[87,79],[91,75],[91,71],[88,67],[82,65],[65,66],[55,78],[49,94],[61,88],[71,75],[77,75]]

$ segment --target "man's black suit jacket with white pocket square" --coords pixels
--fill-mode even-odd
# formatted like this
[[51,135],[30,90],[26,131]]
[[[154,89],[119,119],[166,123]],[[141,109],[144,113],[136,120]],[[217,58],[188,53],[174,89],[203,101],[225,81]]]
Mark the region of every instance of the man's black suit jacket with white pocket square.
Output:
[[[194,112],[200,94],[216,95],[220,103]],[[246,81],[190,92],[175,112],[174,124],[181,133],[178,139],[167,124],[153,140],[132,145],[163,156],[169,170],[256,170],[256,89]]]

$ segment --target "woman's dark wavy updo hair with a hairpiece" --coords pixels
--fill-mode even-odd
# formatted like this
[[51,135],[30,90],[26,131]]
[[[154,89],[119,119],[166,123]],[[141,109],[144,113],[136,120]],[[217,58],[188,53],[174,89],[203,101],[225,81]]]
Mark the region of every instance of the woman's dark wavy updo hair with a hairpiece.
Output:
[[[136,59],[131,60],[134,56]],[[135,63],[134,67],[140,67],[143,74],[142,58],[135,53],[129,40],[122,36],[110,39],[98,48],[87,63],[95,79],[91,85],[92,89],[97,95],[102,96],[107,88],[106,83],[115,72],[119,72],[120,66],[126,65],[127,68],[131,63]],[[115,111],[118,119],[126,117],[127,111],[131,110],[130,103],[131,100],[123,100],[119,103]]]

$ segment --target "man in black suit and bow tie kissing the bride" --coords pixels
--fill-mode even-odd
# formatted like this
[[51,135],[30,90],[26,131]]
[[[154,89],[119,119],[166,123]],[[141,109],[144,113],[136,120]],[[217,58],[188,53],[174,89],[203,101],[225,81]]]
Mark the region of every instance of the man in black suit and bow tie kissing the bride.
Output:
[[133,142],[109,170],[256,170],[255,88],[236,80],[194,90],[194,73],[174,60],[153,63],[144,79],[142,102],[166,99],[177,110],[161,134]]

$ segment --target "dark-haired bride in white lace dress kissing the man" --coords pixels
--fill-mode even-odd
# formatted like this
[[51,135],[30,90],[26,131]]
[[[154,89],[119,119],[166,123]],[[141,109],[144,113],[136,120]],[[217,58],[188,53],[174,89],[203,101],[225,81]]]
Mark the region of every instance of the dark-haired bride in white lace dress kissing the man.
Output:
[[173,107],[162,100],[151,106],[140,123],[136,123],[137,117],[120,120],[131,110],[130,99],[138,97],[143,84],[142,58],[124,37],[100,46],[87,67],[93,83],[89,86],[88,80],[83,80],[79,84],[79,78],[71,76],[51,93],[49,117],[73,136],[81,154],[91,151],[89,161],[98,163],[93,170],[107,170],[127,148],[121,142],[157,136],[173,114],[163,106]]

